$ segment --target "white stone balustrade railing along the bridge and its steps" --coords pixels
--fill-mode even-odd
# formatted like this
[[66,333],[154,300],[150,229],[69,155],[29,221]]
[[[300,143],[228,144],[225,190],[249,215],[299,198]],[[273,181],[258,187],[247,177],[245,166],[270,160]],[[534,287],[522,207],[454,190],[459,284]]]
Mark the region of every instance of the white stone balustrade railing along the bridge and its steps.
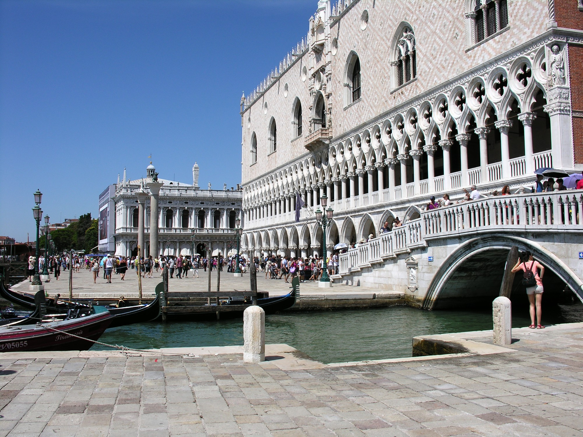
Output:
[[422,212],[421,217],[339,256],[339,273],[427,245],[428,239],[491,229],[583,230],[583,191],[495,196]]

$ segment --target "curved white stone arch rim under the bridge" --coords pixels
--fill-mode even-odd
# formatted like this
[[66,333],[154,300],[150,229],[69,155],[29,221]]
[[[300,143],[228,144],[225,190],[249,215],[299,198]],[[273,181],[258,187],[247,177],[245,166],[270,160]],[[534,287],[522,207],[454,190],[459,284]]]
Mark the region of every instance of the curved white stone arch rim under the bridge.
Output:
[[512,235],[493,234],[472,238],[463,242],[463,244],[459,245],[443,260],[429,284],[426,297],[423,301],[423,308],[433,309],[436,306],[436,302],[440,298],[448,280],[470,258],[487,251],[508,251],[512,246],[518,246],[521,251],[525,249],[531,251],[536,260],[539,260],[546,269],[550,269],[551,272],[562,279],[575,292],[578,298],[583,301],[583,281],[579,279],[577,274],[566,263],[554,255],[554,253],[544,248],[538,242],[530,239]]

